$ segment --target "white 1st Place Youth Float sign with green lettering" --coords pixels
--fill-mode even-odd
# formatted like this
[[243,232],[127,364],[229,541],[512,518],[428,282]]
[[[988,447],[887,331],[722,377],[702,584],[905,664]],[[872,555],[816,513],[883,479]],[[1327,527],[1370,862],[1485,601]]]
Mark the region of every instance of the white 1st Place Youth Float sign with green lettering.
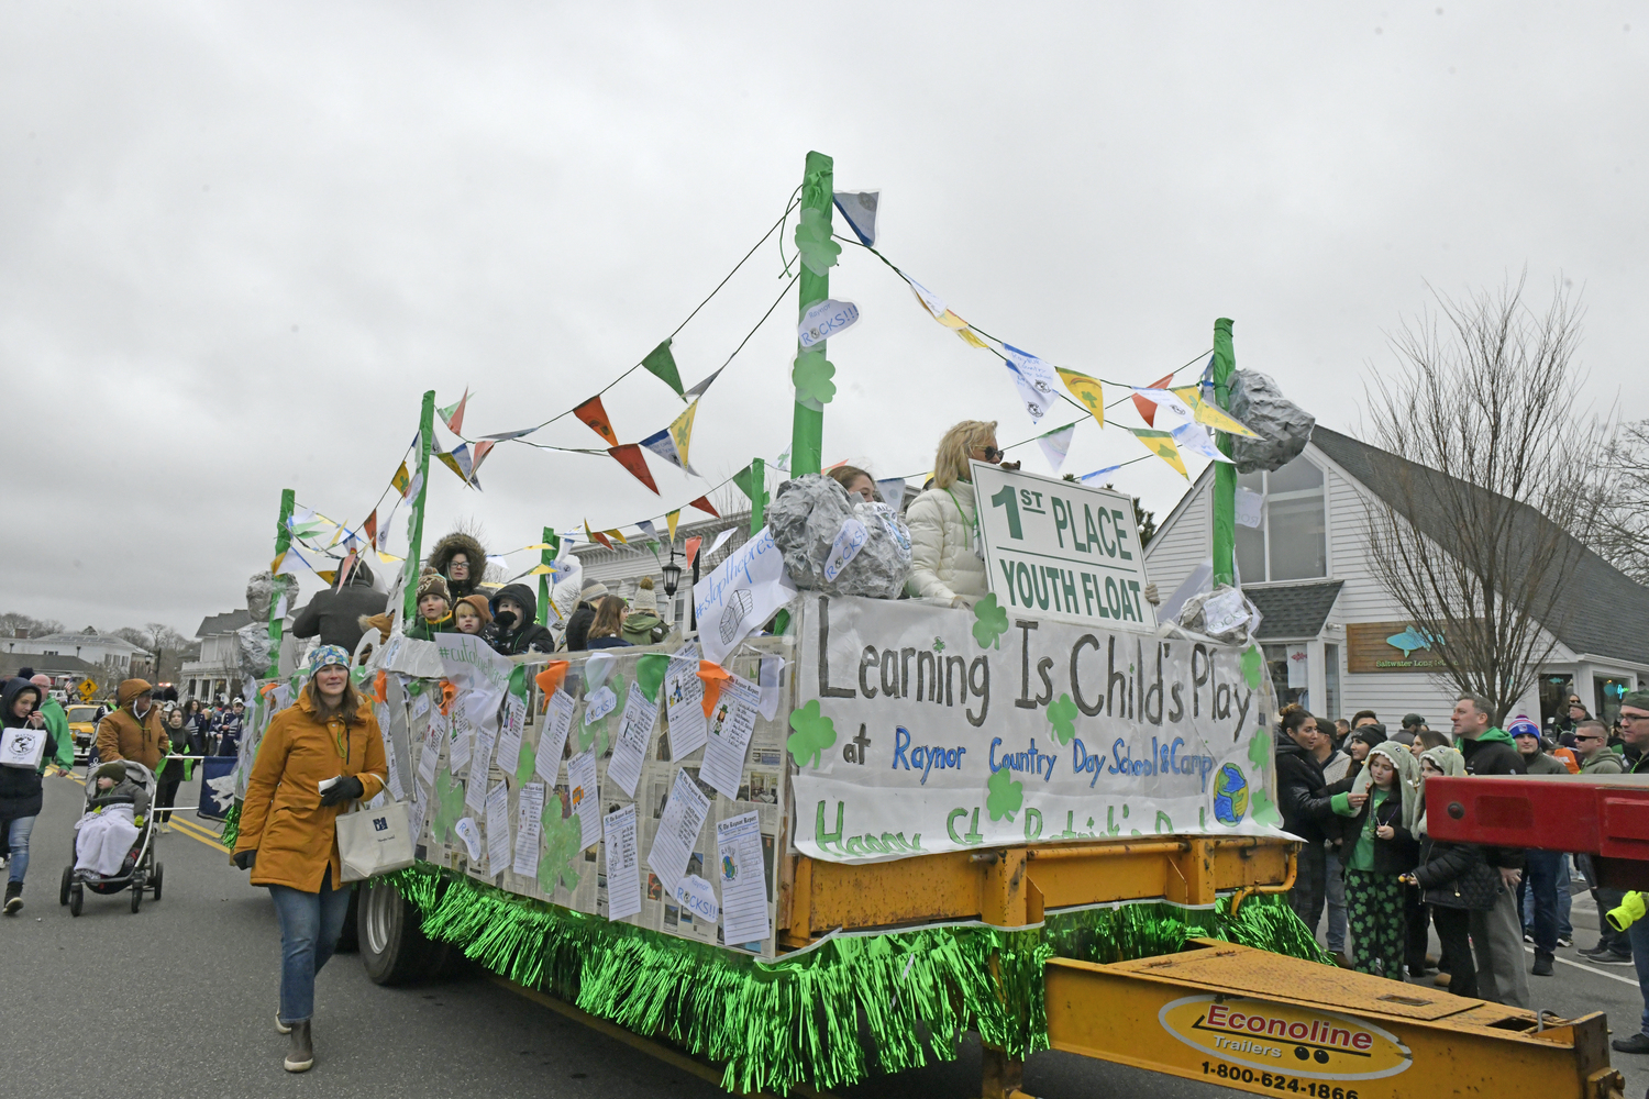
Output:
[[1108,629],[1156,629],[1131,499],[984,461],[971,468],[998,606]]

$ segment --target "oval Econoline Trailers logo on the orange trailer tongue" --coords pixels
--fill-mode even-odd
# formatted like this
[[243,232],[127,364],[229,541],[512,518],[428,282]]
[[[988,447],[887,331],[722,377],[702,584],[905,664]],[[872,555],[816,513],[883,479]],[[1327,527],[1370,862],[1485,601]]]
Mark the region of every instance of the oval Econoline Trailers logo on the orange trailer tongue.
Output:
[[1227,995],[1187,995],[1158,1012],[1163,1028],[1224,1061],[1309,1079],[1380,1079],[1413,1064],[1397,1035],[1334,1012]]

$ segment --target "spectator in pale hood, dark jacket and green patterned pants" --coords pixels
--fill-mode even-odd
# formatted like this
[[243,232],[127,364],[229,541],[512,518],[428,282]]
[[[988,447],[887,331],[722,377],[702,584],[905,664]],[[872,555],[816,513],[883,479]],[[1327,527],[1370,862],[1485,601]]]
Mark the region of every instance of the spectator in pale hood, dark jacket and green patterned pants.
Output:
[[1420,763],[1407,745],[1379,743],[1349,794],[1334,794],[1346,829],[1346,914],[1354,938],[1352,969],[1403,979],[1407,921],[1402,875],[1415,868]]

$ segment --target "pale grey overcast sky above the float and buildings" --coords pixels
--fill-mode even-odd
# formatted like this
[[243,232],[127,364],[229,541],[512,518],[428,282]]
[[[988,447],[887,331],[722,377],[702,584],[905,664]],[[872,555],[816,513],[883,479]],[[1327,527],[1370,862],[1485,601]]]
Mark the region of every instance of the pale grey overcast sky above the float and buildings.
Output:
[[[881,188],[890,260],[1062,366],[1146,384],[1232,316],[1238,367],[1355,432],[1428,283],[1527,267],[1537,303],[1583,292],[1588,397],[1649,415],[1642,5],[1012,7],[0,5],[0,610],[188,634],[241,606],[282,488],[363,519],[425,389],[477,392],[470,435],[579,404],[767,231],[810,148]],[[780,265],[770,241],[681,331],[688,384]],[[1036,433],[1001,361],[872,255],[831,290],[862,320],[831,341],[828,463],[922,473],[960,419]],[[795,315],[699,405],[702,479],[653,461],[653,496],[511,443],[485,493],[434,470],[429,535],[632,524],[775,458]],[[645,372],[605,405],[625,442],[681,410]],[[600,445],[571,417],[534,440]],[[1090,423],[1064,471],[1139,453]],[[1116,483],[1159,517],[1184,491],[1156,460]]]

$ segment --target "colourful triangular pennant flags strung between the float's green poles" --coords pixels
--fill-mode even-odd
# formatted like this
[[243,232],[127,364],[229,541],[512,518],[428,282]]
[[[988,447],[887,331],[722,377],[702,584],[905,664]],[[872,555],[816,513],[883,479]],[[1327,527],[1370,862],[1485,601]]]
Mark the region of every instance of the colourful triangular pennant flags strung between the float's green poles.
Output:
[[[864,250],[876,255],[887,269],[890,269],[900,280],[904,280],[909,285],[922,311],[927,313],[933,321],[937,321],[948,331],[953,331],[970,348],[989,351],[991,354],[996,354],[1003,361],[1004,367],[1009,372],[1009,381],[1014,386],[1022,407],[1031,417],[1032,425],[1041,427],[1041,422],[1049,415],[1049,412],[1059,400],[1064,400],[1083,412],[1083,417],[1078,420],[1072,420],[1070,423],[1064,423],[1060,427],[1041,432],[1017,443],[1011,443],[1004,450],[1024,447],[1034,442],[1037,443],[1037,447],[1041,448],[1042,455],[1047,458],[1054,471],[1059,473],[1070,451],[1077,427],[1087,420],[1092,420],[1102,430],[1106,427],[1123,427],[1123,430],[1128,430],[1135,438],[1139,440],[1141,445],[1144,445],[1148,453],[1130,461],[1121,461],[1111,466],[1105,466],[1103,470],[1095,470],[1092,473],[1080,475],[1077,479],[1095,481],[1102,476],[1115,473],[1116,470],[1130,466],[1135,461],[1144,461],[1151,456],[1166,461],[1181,476],[1189,479],[1189,473],[1184,463],[1184,455],[1187,451],[1197,456],[1209,458],[1212,461],[1230,461],[1230,458],[1220,453],[1220,450],[1214,445],[1214,440],[1209,437],[1207,428],[1227,432],[1232,435],[1247,435],[1255,438],[1258,437],[1257,432],[1253,432],[1245,423],[1238,422],[1235,417],[1222,410],[1217,404],[1214,404],[1212,358],[1209,359],[1207,367],[1202,371],[1202,376],[1194,384],[1189,386],[1172,384],[1174,377],[1181,371],[1200,361],[1202,356],[1210,353],[1205,351],[1197,354],[1184,366],[1169,371],[1167,374],[1156,379],[1149,386],[1133,386],[1128,382],[1116,382],[1097,377],[1083,371],[1050,364],[1042,358],[1022,348],[1009,344],[1008,341],[984,331],[978,325],[963,320],[953,308],[950,308],[950,305],[938,293],[935,293],[927,285],[912,278],[899,265],[889,260],[881,250],[877,250],[876,211],[879,204],[877,203],[879,193],[838,191],[834,193],[833,198],[836,209],[843,214],[843,219],[853,231],[853,237],[841,234],[826,236],[815,232],[815,236],[823,236],[823,241],[811,241],[811,239],[803,241],[803,227],[798,226],[796,234],[798,234],[800,252],[796,257],[785,260],[783,275],[790,275],[790,267],[796,260],[800,260],[801,264],[816,265],[818,260],[815,252],[818,252],[820,247],[828,246],[829,249],[839,252],[839,247],[829,242],[831,236],[836,241],[859,246]],[[757,249],[760,249],[762,244],[765,244],[777,231],[780,231],[785,226],[787,219],[790,217],[790,213],[796,206],[796,201],[798,201],[796,194],[792,194],[790,201],[785,206],[785,213],[780,216],[780,219],[773,222],[767,229],[767,232],[762,234],[762,237],[750,247],[750,250],[744,254],[744,257],[734,265],[734,269],[716,285],[714,290],[711,290],[711,293],[702,302],[699,302],[699,305],[686,316],[686,320],[681,321],[681,325],[676,326],[673,333],[669,333],[669,336],[660,341],[638,362],[632,364],[628,369],[615,376],[610,382],[602,386],[594,395],[585,397],[571,409],[557,412],[556,415],[551,415],[549,419],[536,425],[508,432],[493,432],[472,438],[465,433],[465,414],[468,410],[470,399],[477,394],[470,392],[470,389],[465,387],[463,394],[458,397],[457,402],[437,409],[440,422],[453,437],[460,440],[458,445],[447,450],[440,445],[439,438],[432,438],[430,455],[437,458],[444,466],[447,466],[467,488],[472,488],[475,491],[482,491],[482,484],[478,479],[482,463],[496,450],[500,443],[505,442],[519,442],[523,445],[534,447],[539,450],[605,455],[615,460],[620,466],[623,466],[627,473],[630,473],[637,481],[645,484],[648,491],[651,491],[655,496],[660,494],[660,489],[658,483],[653,479],[651,470],[648,468],[645,456],[646,451],[651,451],[656,458],[668,461],[669,465],[676,466],[688,476],[702,478],[702,475],[699,475],[699,471],[694,470],[691,463],[693,430],[696,423],[699,400],[711,389],[711,386],[721,377],[722,371],[727,369],[727,366],[739,354],[739,351],[742,351],[744,346],[750,341],[750,338],[762,328],[762,325],[767,323],[773,310],[783,302],[790,288],[800,278],[800,270],[796,270],[795,275],[790,275],[788,282],[780,290],[778,297],[767,308],[767,311],[755,323],[755,326],[750,328],[750,331],[744,336],[739,346],[734,348],[732,354],[729,354],[727,359],[716,371],[707,374],[693,387],[684,387],[681,382],[681,371],[674,358],[673,343],[676,336],[686,328],[686,325],[694,316],[698,316],[698,313],[745,265],[745,262],[757,252]],[[818,226],[815,226],[815,231],[816,229]],[[813,250],[810,252],[810,247],[803,246],[810,246]],[[783,257],[782,234],[780,234],[780,254]],[[834,264],[834,254],[831,254],[824,260],[826,269],[828,265],[833,264]],[[780,277],[783,278],[783,275]],[[801,323],[798,326],[798,344],[801,348],[801,354],[798,354],[796,358],[796,369],[793,376],[798,387],[796,394],[798,400],[803,402],[811,400],[821,405],[834,397],[834,386],[828,381],[828,374],[833,372],[833,367],[823,362],[824,356],[818,353],[816,344],[823,343],[828,336],[833,336],[843,328],[851,326],[857,320],[859,320],[857,306],[854,306],[851,302],[826,300],[815,303],[811,308],[805,311]],[[810,353],[816,359],[820,359],[820,362],[810,362],[808,361]],[[811,376],[808,374],[808,369],[811,369],[813,374],[820,374],[820,371],[823,371],[823,374],[820,374],[820,379],[823,381],[821,382],[818,382],[818,379],[810,381]],[[608,415],[607,407],[604,404],[604,395],[608,390],[612,390],[613,386],[617,386],[618,382],[622,382],[625,377],[628,377],[637,371],[646,371],[658,381],[665,382],[665,386],[668,386],[671,392],[674,392],[684,402],[686,407],[676,417],[673,417],[671,422],[663,428],[637,442],[625,443],[620,442],[620,435],[613,428],[612,417]],[[1123,394],[1116,399],[1106,400],[1108,397],[1106,387],[1110,387],[1111,392],[1120,389],[1123,390]],[[1128,425],[1118,425],[1115,422],[1108,423],[1106,410],[1115,409],[1130,400],[1136,407],[1146,427],[1136,428]],[[600,448],[561,447],[561,445],[541,443],[529,438],[541,428],[549,427],[551,423],[556,423],[569,415],[576,417],[579,422],[589,427],[602,440],[604,447]],[[289,532],[292,535],[294,547],[287,550],[285,560],[275,559],[275,562],[272,562],[272,570],[277,573],[290,572],[298,565],[302,565],[310,568],[312,572],[317,572],[317,575],[330,580],[335,570],[315,570],[313,565],[298,550],[300,545],[312,555],[323,555],[328,559],[343,557],[345,560],[350,560],[348,555],[356,554],[359,544],[364,542],[366,547],[376,552],[381,560],[401,562],[402,559],[394,557],[392,554],[388,552],[388,535],[392,526],[394,514],[401,506],[401,503],[416,499],[424,488],[422,473],[419,473],[417,470],[409,470],[407,466],[409,455],[419,453],[420,448],[422,448],[422,438],[414,437],[409,451],[402,455],[402,460],[399,461],[394,475],[389,478],[389,483],[384,488],[383,494],[379,496],[378,503],[373,506],[366,521],[361,522],[358,527],[351,529],[346,524],[327,519],[325,516],[320,516],[313,509],[297,509],[292,519],[289,521]],[[788,470],[787,458],[788,451],[773,463],[775,468]],[[709,493],[714,493],[716,489],[732,483],[737,484],[739,489],[752,499],[752,503],[757,499],[759,494],[765,494],[765,488],[757,483],[755,468],[757,465],[752,463],[744,470],[740,470],[739,473],[735,473],[734,476],[722,481],[721,484],[716,484],[711,489],[702,491],[699,496],[688,501],[686,504],[681,504],[679,507],[673,507],[663,512],[661,516],[653,516],[650,519],[638,519],[625,526],[635,527],[640,532],[638,535],[635,535],[635,540],[641,547],[651,547],[653,554],[656,555],[660,545],[656,521],[661,519],[665,522],[668,531],[668,539],[673,545],[683,509],[693,507],[712,517],[721,517],[716,507],[709,503]],[[914,475],[914,476],[925,476],[925,475]],[[907,481],[910,478],[909,476],[889,478],[887,483],[890,483],[892,479]],[[396,494],[396,499],[391,504],[389,514],[384,516],[383,521],[379,521],[379,511],[383,509],[383,503],[391,491]],[[318,545],[317,535],[325,534],[328,527],[331,529],[330,540],[325,545]],[[727,534],[729,532],[724,532],[722,540],[726,539]],[[599,544],[610,550],[617,549],[617,545],[632,547],[632,539],[627,537],[620,527],[594,529],[587,519],[584,521],[582,529],[566,531],[559,537],[564,542],[572,542],[577,540],[580,535],[585,542]],[[698,542],[699,539],[689,539],[689,540]],[[343,554],[338,552],[340,544],[343,545]],[[490,560],[503,562],[511,554],[524,550],[546,550],[546,549],[557,550],[559,547],[561,547],[559,542],[531,544],[514,550],[508,550],[506,554],[501,555],[490,555]],[[693,550],[698,549],[699,549],[698,545],[693,547]],[[714,549],[716,547],[712,547],[711,552],[714,552]],[[691,564],[693,560],[691,554],[688,560]],[[523,575],[554,573],[554,572],[556,565],[549,564],[549,565],[536,565],[533,570]]]

